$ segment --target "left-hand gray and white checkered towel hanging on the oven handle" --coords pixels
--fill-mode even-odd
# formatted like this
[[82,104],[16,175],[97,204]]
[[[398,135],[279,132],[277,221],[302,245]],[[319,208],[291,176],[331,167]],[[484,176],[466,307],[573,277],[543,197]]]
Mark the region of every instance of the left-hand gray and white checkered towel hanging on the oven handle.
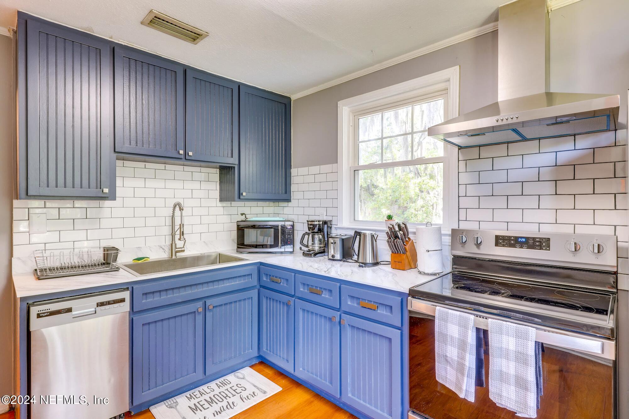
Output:
[[474,401],[476,384],[474,316],[437,307],[435,372],[437,381],[459,397]]

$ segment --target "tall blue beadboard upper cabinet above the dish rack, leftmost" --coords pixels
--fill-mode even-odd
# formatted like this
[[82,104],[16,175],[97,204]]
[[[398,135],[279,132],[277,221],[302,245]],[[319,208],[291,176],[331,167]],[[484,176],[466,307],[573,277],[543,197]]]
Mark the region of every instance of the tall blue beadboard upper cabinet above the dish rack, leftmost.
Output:
[[19,198],[115,198],[111,45],[19,13]]

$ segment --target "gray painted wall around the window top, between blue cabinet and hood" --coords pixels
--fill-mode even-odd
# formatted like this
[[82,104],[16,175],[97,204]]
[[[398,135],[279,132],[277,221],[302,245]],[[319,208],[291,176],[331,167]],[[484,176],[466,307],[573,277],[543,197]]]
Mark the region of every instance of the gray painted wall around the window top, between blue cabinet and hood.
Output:
[[292,102],[292,167],[337,163],[337,104],[460,65],[460,113],[498,98],[498,31],[392,65]]

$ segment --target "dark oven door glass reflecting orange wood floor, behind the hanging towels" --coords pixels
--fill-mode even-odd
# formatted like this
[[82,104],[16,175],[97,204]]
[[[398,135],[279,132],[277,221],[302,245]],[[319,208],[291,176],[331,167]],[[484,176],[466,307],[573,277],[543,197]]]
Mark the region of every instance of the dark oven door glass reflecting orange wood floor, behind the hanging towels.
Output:
[[[485,351],[485,387],[476,387],[474,403],[457,396],[435,377],[435,318],[411,315],[409,321],[410,407],[433,419],[518,419],[489,398],[489,354]],[[489,342],[491,345],[491,340]],[[544,345],[543,394],[537,418],[611,419],[614,365],[611,360],[576,350]]]

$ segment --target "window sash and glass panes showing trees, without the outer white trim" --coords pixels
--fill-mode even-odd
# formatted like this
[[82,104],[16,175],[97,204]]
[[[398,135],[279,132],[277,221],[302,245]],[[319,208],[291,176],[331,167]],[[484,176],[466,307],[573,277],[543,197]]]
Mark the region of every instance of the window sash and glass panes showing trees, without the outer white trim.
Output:
[[[426,135],[443,122],[447,95],[354,116],[354,219],[443,223],[443,143]],[[427,159],[427,160],[426,160]]]

